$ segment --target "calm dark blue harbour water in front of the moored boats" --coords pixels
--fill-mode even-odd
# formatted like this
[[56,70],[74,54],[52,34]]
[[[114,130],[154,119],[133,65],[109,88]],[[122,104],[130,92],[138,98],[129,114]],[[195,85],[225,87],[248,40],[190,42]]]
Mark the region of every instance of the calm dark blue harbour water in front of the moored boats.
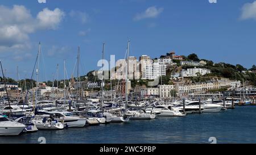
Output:
[[192,114],[181,118],[130,120],[61,131],[38,131],[0,137],[0,143],[256,143],[256,106],[236,107],[219,113]]

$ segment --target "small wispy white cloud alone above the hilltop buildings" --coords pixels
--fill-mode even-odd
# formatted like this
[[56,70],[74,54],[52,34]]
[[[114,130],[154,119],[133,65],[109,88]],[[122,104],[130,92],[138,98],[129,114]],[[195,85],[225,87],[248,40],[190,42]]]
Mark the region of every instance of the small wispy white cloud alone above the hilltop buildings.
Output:
[[162,12],[163,8],[157,9],[155,6],[148,7],[148,9],[142,13],[135,15],[134,20],[141,20],[145,18],[157,18]]

